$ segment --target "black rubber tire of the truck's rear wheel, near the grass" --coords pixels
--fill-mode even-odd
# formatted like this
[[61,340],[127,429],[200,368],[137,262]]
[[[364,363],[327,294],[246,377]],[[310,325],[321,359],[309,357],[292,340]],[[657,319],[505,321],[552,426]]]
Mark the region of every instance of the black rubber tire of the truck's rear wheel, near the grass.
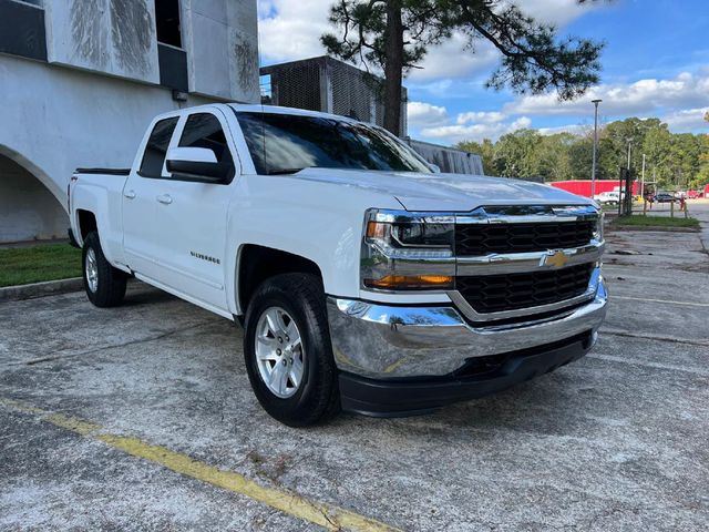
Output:
[[[95,257],[95,272],[97,274],[97,286],[95,289],[91,288],[86,275],[86,256],[93,252]],[[86,297],[96,307],[115,307],[121,305],[123,296],[125,296],[125,285],[127,283],[127,274],[114,268],[106,260],[103,249],[101,249],[101,241],[99,239],[99,233],[95,231],[89,233],[84,238],[84,247],[82,253],[82,270],[84,276],[84,290],[86,290]]]

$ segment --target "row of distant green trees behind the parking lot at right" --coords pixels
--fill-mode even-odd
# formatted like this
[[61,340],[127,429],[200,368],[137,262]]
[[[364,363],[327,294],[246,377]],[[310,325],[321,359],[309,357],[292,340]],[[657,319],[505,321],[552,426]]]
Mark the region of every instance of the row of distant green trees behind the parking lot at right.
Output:
[[[599,180],[618,178],[628,164],[639,178],[645,154],[646,182],[656,188],[699,188],[709,183],[709,135],[671,133],[658,119],[630,117],[602,126],[598,132]],[[593,131],[583,134],[542,135],[518,130],[490,140],[461,142],[458,149],[483,156],[487,174],[510,177],[544,177],[544,181],[589,180]]]

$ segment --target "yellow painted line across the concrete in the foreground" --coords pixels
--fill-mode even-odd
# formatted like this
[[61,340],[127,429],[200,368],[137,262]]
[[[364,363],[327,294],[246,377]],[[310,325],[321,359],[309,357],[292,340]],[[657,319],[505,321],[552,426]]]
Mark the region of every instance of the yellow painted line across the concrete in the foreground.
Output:
[[103,428],[96,423],[61,413],[49,412],[12,399],[0,398],[0,405],[8,410],[29,413],[55,427],[68,429],[91,440],[101,441],[133,457],[158,463],[171,471],[207,482],[234,493],[246,495],[284,513],[309,521],[328,530],[367,532],[399,530],[333,504],[308,500],[286,489],[261,485],[258,482],[247,479],[243,474],[217,469],[214,466],[194,460],[186,454],[172,451],[166,447],[146,443],[137,438],[104,432]]

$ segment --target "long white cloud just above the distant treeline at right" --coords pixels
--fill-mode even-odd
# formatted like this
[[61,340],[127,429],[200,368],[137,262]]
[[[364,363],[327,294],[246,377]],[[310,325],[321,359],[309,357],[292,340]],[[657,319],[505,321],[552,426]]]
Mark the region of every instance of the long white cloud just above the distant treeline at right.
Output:
[[592,100],[600,99],[599,113],[610,116],[653,114],[658,109],[699,108],[707,102],[709,73],[684,72],[671,80],[647,79],[629,84],[602,84],[592,88],[582,99],[559,102],[556,94],[523,96],[506,104],[508,114],[587,115],[593,113]]

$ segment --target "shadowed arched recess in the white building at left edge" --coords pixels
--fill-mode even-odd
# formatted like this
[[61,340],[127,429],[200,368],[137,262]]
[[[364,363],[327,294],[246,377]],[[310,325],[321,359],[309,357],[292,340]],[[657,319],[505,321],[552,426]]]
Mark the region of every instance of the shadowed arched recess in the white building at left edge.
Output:
[[0,155],[0,242],[64,238],[69,217],[49,190]]

